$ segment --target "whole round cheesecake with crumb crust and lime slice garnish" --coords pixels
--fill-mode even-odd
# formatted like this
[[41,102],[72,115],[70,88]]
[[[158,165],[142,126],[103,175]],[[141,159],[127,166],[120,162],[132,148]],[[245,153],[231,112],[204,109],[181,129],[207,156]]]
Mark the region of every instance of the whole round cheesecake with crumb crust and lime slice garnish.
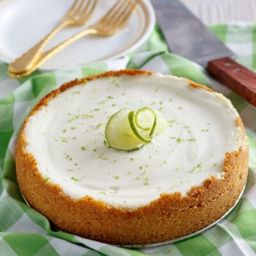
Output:
[[186,236],[246,184],[248,143],[230,100],[188,79],[121,70],[45,96],[15,150],[28,203],[61,230],[111,244]]

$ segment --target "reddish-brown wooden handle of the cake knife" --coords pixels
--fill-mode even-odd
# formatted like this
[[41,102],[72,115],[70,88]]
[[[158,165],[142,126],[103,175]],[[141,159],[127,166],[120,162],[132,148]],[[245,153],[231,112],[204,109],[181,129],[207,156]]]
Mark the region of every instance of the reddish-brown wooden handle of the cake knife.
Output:
[[212,77],[256,106],[256,74],[230,58],[209,61]]

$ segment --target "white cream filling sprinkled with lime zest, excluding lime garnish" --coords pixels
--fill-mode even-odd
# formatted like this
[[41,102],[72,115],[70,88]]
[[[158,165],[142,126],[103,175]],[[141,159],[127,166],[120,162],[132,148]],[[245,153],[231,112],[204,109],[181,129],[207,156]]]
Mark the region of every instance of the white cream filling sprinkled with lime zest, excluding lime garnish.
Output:
[[[170,127],[140,150],[108,148],[109,116],[145,106],[160,111]],[[239,146],[237,116],[220,93],[178,77],[101,78],[60,93],[30,116],[26,150],[45,181],[59,184],[68,196],[134,209],[162,193],[186,195],[211,175],[221,179],[225,152]]]

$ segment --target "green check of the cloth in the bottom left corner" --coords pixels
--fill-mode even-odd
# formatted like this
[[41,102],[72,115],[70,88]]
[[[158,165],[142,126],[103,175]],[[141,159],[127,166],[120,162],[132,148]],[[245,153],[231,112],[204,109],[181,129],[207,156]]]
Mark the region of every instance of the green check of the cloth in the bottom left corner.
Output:
[[[12,247],[13,251],[20,256],[33,256],[48,243],[44,236],[28,233],[23,233],[21,235],[13,232],[12,234],[4,236],[3,239]],[[51,254],[49,253],[49,255]]]

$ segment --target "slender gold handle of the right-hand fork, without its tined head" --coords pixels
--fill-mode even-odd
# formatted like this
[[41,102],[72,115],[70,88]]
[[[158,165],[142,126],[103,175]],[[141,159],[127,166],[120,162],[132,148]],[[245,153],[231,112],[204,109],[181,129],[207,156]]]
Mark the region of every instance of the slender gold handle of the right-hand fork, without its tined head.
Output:
[[67,47],[68,45],[72,44],[73,42],[76,42],[78,39],[80,39],[83,36],[97,34],[97,33],[98,33],[97,29],[93,29],[93,28],[84,29],[83,31],[80,31],[76,35],[68,38],[68,40],[65,40],[64,42],[56,45],[55,47],[52,47],[48,51],[45,51],[45,52],[42,52],[41,54],[39,54],[38,62],[35,63],[35,65],[33,65],[33,67],[31,69],[26,70],[25,72],[21,72],[21,73],[14,73],[14,72],[8,70],[8,74],[9,74],[9,76],[15,77],[15,78],[28,76],[29,74],[34,72],[37,68],[41,67],[45,63],[45,61],[49,60],[50,58],[52,58],[52,56],[54,56],[55,54],[60,52],[63,48]]

